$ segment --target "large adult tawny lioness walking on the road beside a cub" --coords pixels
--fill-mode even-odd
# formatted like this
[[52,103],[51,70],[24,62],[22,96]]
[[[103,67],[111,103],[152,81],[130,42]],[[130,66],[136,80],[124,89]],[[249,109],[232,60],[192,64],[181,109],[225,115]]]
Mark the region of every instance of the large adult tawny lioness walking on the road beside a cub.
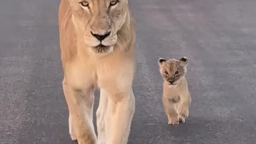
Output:
[[[135,22],[128,1],[61,0],[59,34],[71,139],[127,143],[135,109]],[[97,88],[98,140],[93,127]]]

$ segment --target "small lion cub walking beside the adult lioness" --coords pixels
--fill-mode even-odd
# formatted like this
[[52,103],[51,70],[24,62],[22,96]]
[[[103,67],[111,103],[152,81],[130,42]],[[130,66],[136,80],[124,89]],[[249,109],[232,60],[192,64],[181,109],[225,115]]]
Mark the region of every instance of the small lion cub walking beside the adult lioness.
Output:
[[188,117],[191,97],[186,80],[188,58],[158,59],[159,71],[164,79],[163,106],[168,117],[168,124],[185,123]]

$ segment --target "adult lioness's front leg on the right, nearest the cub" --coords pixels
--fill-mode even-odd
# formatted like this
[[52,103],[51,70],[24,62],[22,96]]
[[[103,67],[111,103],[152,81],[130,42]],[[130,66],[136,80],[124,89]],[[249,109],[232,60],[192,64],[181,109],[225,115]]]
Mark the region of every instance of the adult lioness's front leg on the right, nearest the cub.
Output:
[[110,95],[107,108],[109,125],[106,144],[126,144],[135,110],[133,91]]

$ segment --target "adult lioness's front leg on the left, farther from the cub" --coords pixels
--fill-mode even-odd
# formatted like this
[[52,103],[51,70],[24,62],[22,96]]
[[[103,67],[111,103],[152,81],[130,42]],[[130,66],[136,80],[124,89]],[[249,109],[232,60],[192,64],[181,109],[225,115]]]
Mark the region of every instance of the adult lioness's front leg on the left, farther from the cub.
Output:
[[70,137],[79,144],[95,144],[93,113],[93,89],[74,90],[63,82],[63,91],[69,108]]

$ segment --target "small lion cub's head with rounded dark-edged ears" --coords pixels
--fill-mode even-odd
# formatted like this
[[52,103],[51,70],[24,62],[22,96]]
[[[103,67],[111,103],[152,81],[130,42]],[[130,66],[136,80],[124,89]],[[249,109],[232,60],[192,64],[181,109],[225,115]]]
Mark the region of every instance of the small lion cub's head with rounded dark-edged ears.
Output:
[[158,65],[164,81],[169,85],[177,85],[181,77],[187,73],[188,58],[182,57],[181,59],[158,59]]

